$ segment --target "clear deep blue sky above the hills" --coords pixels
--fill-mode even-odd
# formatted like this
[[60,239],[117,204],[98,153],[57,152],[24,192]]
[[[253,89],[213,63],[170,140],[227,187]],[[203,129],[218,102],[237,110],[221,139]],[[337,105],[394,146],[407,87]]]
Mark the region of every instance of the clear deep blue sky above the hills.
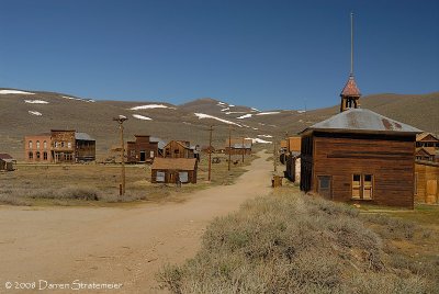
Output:
[[439,1],[0,0],[0,88],[263,110],[439,90]]

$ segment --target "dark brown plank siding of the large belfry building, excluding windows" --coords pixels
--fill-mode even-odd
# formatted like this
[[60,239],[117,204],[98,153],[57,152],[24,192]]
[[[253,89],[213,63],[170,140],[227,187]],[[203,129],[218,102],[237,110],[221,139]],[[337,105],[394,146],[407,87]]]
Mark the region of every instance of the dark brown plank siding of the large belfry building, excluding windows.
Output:
[[311,190],[318,191],[317,177],[330,176],[336,201],[352,200],[353,174],[372,174],[371,203],[413,207],[415,136],[313,133]]

